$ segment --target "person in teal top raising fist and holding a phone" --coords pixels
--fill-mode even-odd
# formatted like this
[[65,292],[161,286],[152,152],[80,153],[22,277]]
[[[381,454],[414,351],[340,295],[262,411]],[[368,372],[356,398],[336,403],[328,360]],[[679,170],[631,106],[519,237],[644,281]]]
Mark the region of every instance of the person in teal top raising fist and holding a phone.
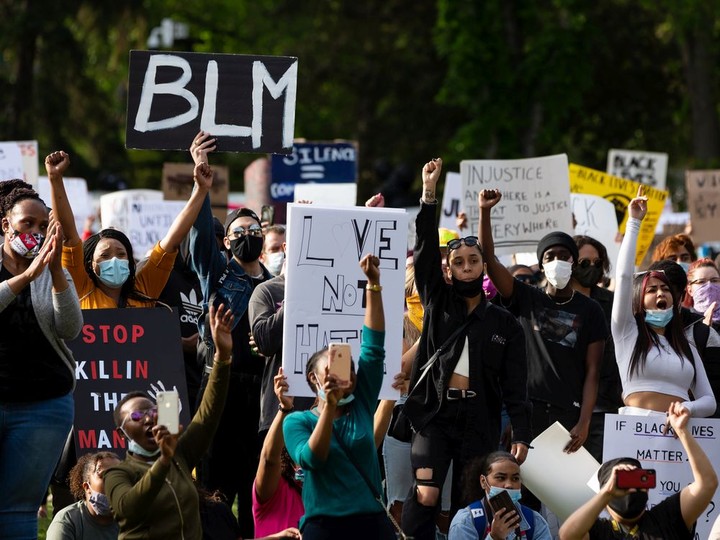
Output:
[[330,374],[327,349],[313,354],[306,376],[318,405],[290,414],[283,425],[288,453],[305,475],[300,523],[305,540],[395,540],[381,499],[373,438],[385,358],[379,263],[374,255],[360,261],[368,283],[357,373],[350,381],[340,380]]

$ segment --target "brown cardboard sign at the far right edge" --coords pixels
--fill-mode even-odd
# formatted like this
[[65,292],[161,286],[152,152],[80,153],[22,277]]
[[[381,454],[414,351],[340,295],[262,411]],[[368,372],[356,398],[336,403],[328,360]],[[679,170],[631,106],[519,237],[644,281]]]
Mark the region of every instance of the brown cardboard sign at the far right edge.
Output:
[[720,170],[685,171],[685,187],[693,240],[720,241]]

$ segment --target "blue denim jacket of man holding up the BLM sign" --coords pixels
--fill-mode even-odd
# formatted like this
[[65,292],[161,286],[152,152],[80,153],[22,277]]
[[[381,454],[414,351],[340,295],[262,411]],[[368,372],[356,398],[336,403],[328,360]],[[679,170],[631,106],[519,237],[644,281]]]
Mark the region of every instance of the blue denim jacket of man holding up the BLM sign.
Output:
[[[215,240],[210,198],[205,196],[202,208],[190,229],[190,266],[200,279],[203,292],[203,310],[198,317],[198,331],[205,342],[212,342],[210,328],[205,325],[211,303],[229,307],[235,316],[234,325],[247,311],[253,283],[240,264],[231,259],[228,263]],[[263,269],[263,272],[266,272]]]

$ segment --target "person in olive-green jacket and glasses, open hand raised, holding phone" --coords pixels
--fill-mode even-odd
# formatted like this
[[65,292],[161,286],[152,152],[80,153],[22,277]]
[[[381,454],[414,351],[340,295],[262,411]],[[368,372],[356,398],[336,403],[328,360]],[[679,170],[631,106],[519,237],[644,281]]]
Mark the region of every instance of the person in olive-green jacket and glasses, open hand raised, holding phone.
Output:
[[179,434],[157,425],[157,405],[143,392],[120,400],[113,418],[127,441],[125,460],[105,473],[105,492],[124,539],[201,538],[198,492],[192,470],[210,445],[230,379],[233,316],[210,307],[208,326],[215,364],[202,403]]

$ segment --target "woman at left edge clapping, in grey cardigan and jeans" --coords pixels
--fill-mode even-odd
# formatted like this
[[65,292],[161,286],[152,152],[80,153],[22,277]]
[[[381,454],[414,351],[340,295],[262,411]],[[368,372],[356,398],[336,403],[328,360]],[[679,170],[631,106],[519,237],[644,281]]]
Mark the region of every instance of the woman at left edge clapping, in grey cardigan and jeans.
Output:
[[82,327],[61,265],[63,228],[30,184],[0,182],[0,538],[37,536],[37,511],[73,421]]

